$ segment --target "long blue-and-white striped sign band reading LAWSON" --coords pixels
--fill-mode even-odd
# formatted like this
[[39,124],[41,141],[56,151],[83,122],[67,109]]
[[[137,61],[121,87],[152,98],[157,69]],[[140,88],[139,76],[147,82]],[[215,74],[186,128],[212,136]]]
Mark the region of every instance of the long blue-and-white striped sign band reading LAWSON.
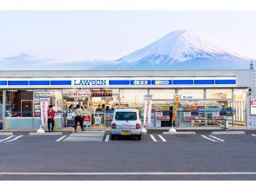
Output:
[[1,89],[235,87],[235,77],[2,78]]

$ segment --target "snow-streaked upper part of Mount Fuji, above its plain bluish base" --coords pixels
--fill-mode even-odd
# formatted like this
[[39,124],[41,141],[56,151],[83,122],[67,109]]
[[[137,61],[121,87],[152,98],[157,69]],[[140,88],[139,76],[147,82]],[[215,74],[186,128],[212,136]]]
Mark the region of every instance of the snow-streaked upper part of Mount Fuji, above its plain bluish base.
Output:
[[218,58],[245,60],[246,57],[239,56],[226,49],[217,47],[195,36],[189,30],[177,30],[149,44],[143,49],[124,56],[118,61],[127,63],[181,63],[194,58]]

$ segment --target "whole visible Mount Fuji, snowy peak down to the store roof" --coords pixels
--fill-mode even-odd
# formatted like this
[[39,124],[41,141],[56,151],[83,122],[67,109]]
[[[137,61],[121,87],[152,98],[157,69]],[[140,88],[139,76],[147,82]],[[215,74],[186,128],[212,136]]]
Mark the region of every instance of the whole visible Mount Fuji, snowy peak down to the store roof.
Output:
[[189,30],[177,30],[100,69],[249,69],[250,60],[208,43]]

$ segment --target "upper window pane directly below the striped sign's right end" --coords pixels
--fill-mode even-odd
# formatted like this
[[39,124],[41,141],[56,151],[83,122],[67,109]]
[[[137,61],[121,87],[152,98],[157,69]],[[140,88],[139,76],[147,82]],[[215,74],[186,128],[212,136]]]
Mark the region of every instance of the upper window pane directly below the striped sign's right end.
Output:
[[206,89],[206,99],[232,99],[232,89]]

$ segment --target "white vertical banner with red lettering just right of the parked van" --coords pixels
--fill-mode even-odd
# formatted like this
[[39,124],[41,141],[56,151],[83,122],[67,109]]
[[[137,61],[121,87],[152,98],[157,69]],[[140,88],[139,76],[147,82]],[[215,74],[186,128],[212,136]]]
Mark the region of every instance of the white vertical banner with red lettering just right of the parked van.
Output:
[[152,121],[152,96],[153,95],[144,95],[144,125],[149,127]]

